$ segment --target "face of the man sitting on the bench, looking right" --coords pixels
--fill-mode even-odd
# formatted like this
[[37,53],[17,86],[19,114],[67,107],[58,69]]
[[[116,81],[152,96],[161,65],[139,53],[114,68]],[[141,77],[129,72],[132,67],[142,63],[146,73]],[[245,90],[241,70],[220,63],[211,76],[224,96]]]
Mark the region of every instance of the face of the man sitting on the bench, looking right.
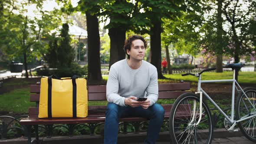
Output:
[[144,43],[141,39],[136,39],[131,43],[131,50],[126,50],[128,55],[130,55],[131,60],[141,61],[145,55]]

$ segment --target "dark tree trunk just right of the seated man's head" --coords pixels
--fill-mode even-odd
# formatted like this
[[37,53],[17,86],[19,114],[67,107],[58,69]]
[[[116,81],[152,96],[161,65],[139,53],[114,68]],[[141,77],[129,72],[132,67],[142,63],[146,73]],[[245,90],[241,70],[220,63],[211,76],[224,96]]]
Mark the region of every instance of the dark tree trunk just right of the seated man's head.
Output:
[[150,31],[151,64],[157,68],[158,79],[164,79],[161,72],[161,20],[154,20]]

